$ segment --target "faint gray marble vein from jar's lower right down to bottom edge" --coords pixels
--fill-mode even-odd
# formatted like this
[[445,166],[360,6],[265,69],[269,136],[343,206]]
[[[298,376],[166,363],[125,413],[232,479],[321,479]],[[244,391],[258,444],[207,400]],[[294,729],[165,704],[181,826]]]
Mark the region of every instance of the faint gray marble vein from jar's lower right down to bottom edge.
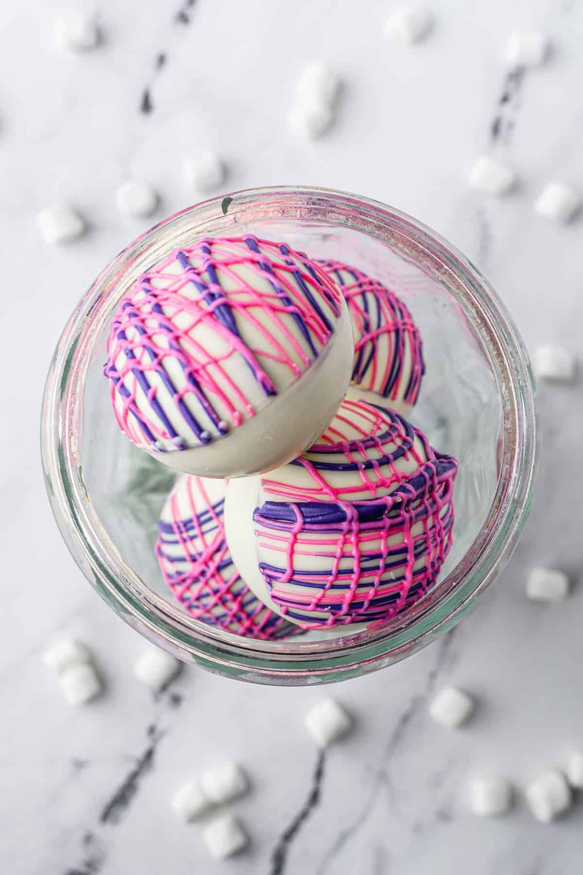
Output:
[[422,693],[420,693],[420,695],[413,696],[410,699],[409,703],[406,705],[405,710],[402,711],[399,715],[399,718],[394,725],[392,733],[389,736],[389,739],[385,746],[385,752],[383,753],[382,757],[382,764],[378,769],[375,770],[375,773],[373,774],[369,795],[364,800],[360,811],[358,812],[352,823],[344,827],[344,829],[338,833],[338,836],[336,840],[332,843],[330,849],[325,852],[323,859],[316,870],[316,875],[324,875],[324,872],[328,871],[332,861],[337,858],[338,854],[340,854],[341,851],[344,850],[346,844],[348,844],[354,837],[357,836],[358,832],[362,830],[364,824],[368,821],[369,817],[371,816],[372,810],[375,808],[378,802],[381,788],[389,786],[388,766],[390,760],[392,759],[394,753],[397,752],[400,743],[405,738],[406,732],[410,725],[413,723],[414,718],[417,717],[423,705],[426,704],[427,698],[430,697],[433,693],[435,684],[439,679],[441,671],[448,661],[448,656],[450,655],[455,631],[455,629],[452,629],[451,632],[445,634],[440,641],[435,643],[435,662],[434,666],[427,674],[427,680],[424,690],[422,691]]

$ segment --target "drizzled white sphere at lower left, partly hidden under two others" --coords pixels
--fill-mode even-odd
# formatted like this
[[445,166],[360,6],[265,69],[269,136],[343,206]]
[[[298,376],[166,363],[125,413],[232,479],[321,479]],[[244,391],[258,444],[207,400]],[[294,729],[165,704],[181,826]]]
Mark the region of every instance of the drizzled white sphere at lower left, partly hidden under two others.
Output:
[[185,610],[209,626],[263,641],[298,634],[243,582],[226,545],[226,480],[184,475],[158,523],[156,556],[164,580]]

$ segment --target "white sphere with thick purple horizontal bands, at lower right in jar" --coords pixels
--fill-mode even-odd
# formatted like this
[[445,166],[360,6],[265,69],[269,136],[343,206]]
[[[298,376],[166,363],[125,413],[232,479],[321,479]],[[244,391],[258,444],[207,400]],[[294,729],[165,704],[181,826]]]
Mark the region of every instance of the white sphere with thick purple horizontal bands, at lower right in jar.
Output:
[[456,472],[402,416],[347,397],[302,457],[229,482],[233,561],[302,628],[389,619],[433,586],[448,555]]

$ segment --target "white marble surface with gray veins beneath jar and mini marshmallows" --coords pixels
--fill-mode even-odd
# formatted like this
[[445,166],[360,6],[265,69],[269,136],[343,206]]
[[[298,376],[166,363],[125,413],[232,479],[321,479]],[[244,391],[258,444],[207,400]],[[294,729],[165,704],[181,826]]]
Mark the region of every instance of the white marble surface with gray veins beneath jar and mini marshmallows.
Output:
[[[0,871],[576,872],[583,804],[543,827],[519,795],[510,816],[482,822],[468,813],[466,788],[490,769],[524,787],[583,744],[581,381],[541,388],[535,506],[503,577],[447,638],[330,690],[357,726],[330,750],[319,781],[302,713],[321,690],[253,687],[186,669],[156,698],[135,681],[142,640],[68,556],[45,498],[37,435],[45,370],[67,316],[103,264],[146,227],[116,213],[116,186],[142,175],[162,193],[158,216],[174,212],[195,200],[184,191],[181,159],[204,147],[226,158],[231,189],[338,187],[420,217],[487,273],[528,345],[580,353],[583,221],[554,227],[532,202],[549,179],[583,193],[583,8],[435,0],[431,38],[406,48],[385,42],[385,0],[179,2],[103,0],[104,42],[85,55],[52,45],[56,0],[10,4],[0,24]],[[552,37],[552,59],[509,80],[505,40],[532,26]],[[337,68],[346,88],[334,130],[302,143],[284,120],[295,77],[315,57]],[[517,168],[517,193],[491,201],[468,190],[465,172],[483,152]],[[34,217],[63,198],[90,233],[50,248]],[[534,562],[569,571],[566,602],[526,601]],[[62,702],[40,662],[59,631],[78,634],[97,655],[107,695],[87,708]],[[427,716],[428,698],[446,682],[479,700],[459,732]],[[253,779],[251,795],[233,804],[252,844],[213,863],[199,827],[178,823],[169,797],[224,757]],[[278,868],[274,849],[310,793]]]

